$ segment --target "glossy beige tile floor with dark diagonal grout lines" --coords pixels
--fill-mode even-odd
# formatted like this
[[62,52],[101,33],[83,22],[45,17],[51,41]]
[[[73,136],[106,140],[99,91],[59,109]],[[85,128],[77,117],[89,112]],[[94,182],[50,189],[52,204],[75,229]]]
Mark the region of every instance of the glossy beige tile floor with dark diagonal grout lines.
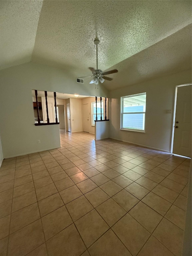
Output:
[[190,159],[85,132],[5,159],[0,250],[8,256],[179,256]]

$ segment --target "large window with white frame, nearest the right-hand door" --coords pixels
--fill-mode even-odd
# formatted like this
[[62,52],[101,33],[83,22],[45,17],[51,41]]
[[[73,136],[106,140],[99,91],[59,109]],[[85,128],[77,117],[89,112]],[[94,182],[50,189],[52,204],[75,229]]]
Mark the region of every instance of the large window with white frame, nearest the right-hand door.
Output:
[[145,131],[146,92],[121,97],[121,129]]

